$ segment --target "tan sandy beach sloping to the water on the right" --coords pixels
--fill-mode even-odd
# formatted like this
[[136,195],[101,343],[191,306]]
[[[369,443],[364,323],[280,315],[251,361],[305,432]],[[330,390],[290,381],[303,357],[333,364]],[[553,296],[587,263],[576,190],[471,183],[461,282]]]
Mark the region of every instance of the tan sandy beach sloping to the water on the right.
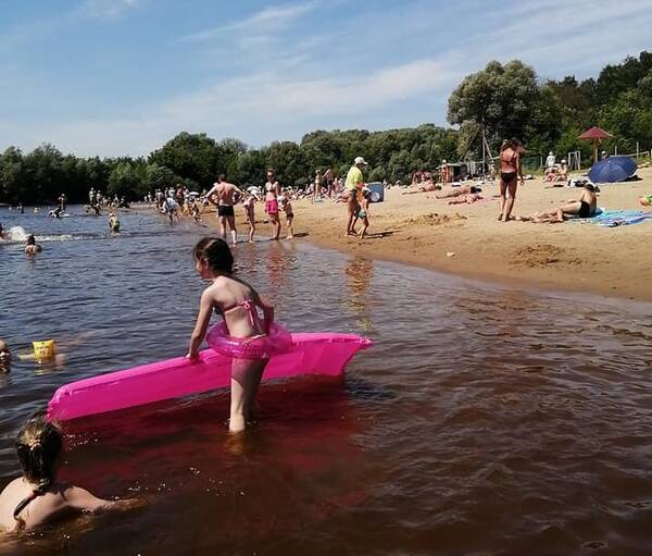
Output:
[[[652,193],[652,169],[640,169],[639,176],[642,180],[637,182],[602,185],[598,206],[641,210],[638,198]],[[434,193],[404,191],[391,188],[385,202],[372,205],[371,235],[363,240],[344,237],[344,205],[293,201],[294,232],[306,234],[294,240],[463,276],[652,300],[652,255],[648,249],[652,222],[618,227],[578,222],[502,223],[497,221],[497,185],[486,186],[486,200],[474,205],[450,206]],[[540,177],[530,180],[518,188],[514,214],[551,210],[578,194],[573,187],[552,188]],[[241,212],[240,234],[246,230]],[[204,221],[216,224],[209,214]],[[258,203],[256,233],[261,235],[269,232],[263,221],[263,203]]]

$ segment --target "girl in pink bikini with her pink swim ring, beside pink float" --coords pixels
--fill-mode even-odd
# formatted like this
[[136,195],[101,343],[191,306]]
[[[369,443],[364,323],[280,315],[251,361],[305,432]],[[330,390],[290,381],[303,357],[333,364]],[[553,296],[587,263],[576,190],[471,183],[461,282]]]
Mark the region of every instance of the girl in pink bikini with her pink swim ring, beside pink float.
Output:
[[290,349],[291,337],[274,324],[274,308],[247,282],[234,276],[234,257],[226,242],[204,237],[195,246],[192,255],[197,273],[212,284],[201,295],[186,357],[198,357],[213,311],[222,314],[224,323],[209,332],[208,343],[233,359],[229,431],[241,432],[253,417],[255,396],[269,357]]

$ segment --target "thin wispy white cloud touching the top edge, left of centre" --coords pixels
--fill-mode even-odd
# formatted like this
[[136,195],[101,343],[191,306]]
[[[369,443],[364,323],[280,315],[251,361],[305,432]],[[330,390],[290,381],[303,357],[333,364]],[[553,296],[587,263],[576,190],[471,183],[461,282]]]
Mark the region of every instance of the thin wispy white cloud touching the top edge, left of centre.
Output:
[[305,2],[300,4],[276,5],[264,8],[243,20],[221,25],[208,29],[185,35],[178,40],[189,42],[203,42],[220,37],[224,33],[234,30],[247,30],[249,35],[269,35],[287,28],[302,15],[317,8],[316,2]]

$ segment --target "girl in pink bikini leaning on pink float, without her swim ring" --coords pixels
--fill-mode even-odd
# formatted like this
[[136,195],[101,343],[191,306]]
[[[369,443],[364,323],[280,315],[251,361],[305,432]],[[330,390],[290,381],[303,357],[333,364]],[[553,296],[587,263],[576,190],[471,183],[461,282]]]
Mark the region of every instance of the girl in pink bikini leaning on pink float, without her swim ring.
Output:
[[[226,242],[204,237],[195,246],[192,255],[197,273],[212,284],[201,295],[199,314],[186,357],[197,358],[213,311],[222,314],[230,341],[247,344],[266,337],[274,321],[274,308],[264,302],[247,282],[233,275],[234,257]],[[262,321],[258,307],[263,311]],[[229,431],[235,433],[243,431],[252,419],[258,388],[269,359],[231,357]]]

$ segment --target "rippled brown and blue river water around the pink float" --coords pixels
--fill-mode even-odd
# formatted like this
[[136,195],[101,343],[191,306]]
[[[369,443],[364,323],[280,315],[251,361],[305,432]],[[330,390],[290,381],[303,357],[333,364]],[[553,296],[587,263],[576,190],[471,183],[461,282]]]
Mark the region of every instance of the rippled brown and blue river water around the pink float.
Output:
[[[0,487],[21,422],[73,380],[183,355],[205,232],[149,213],[0,211],[0,337],[55,338],[59,367],[0,378]],[[16,230],[14,230],[15,233]],[[239,245],[239,272],[296,331],[367,335],[344,379],[264,385],[65,425],[61,475],[147,505],[54,527],[20,554],[649,554],[652,306],[541,293],[321,250]],[[12,545],[13,546],[13,545]],[[0,547],[0,551],[2,548]]]

